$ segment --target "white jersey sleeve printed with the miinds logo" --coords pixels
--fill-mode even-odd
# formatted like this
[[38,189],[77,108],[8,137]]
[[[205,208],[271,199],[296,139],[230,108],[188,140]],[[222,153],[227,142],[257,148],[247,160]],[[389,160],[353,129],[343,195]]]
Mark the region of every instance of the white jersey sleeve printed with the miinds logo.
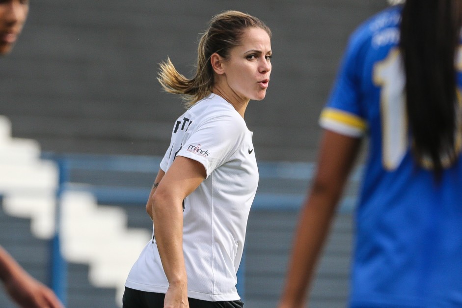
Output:
[[228,114],[215,116],[202,122],[191,132],[177,156],[201,163],[208,177],[213,170],[233,156],[244,136],[243,119]]

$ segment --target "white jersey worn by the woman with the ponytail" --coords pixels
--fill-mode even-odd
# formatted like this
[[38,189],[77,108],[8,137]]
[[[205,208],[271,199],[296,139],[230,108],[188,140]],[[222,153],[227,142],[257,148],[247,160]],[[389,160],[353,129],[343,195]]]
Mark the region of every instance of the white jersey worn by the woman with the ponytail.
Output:
[[[231,104],[211,94],[178,118],[161,169],[167,172],[176,156],[200,162],[207,172],[206,179],[183,202],[188,297],[239,300],[236,272],[258,185],[252,132]],[[141,252],[125,286],[167,291],[155,240]]]

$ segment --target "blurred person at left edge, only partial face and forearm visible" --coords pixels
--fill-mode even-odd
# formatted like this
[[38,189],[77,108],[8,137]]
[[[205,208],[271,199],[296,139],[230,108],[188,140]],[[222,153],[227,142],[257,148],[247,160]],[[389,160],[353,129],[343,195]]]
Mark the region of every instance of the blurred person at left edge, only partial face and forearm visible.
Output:
[[[0,56],[13,48],[29,11],[28,0],[0,0]],[[20,307],[62,307],[53,291],[33,279],[0,246],[0,280],[10,297]]]

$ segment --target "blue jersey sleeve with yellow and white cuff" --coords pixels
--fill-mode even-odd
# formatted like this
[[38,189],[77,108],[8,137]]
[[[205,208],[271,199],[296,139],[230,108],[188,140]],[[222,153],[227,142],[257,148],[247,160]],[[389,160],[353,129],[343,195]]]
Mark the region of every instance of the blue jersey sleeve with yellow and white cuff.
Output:
[[340,66],[330,97],[323,109],[321,127],[351,137],[361,137],[366,132],[366,120],[360,107],[360,72],[362,67],[361,33],[353,33]]

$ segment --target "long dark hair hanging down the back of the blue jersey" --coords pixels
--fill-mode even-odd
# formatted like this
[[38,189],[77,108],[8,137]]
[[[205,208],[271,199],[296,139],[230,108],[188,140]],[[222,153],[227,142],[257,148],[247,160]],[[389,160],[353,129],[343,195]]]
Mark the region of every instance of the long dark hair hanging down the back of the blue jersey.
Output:
[[460,151],[456,56],[461,27],[461,0],[407,0],[404,4],[400,47],[412,153],[436,176],[454,164]]

